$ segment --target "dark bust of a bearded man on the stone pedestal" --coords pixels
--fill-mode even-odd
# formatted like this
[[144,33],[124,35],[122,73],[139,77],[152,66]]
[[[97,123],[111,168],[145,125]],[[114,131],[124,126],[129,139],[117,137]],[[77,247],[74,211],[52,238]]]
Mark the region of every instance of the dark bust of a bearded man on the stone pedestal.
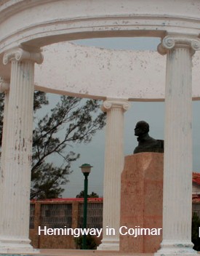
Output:
[[164,140],[155,140],[148,135],[149,125],[146,121],[138,121],[135,126],[135,136],[137,137],[138,145],[133,153],[141,152],[164,152]]

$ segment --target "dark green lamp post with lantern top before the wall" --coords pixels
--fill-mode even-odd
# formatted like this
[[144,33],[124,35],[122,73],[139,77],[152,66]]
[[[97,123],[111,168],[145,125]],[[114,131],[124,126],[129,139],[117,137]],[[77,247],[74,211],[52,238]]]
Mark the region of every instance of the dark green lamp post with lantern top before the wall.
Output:
[[[87,228],[87,184],[88,180],[87,177],[89,172],[91,171],[92,166],[90,164],[82,164],[81,165],[81,172],[84,174],[84,223],[83,228]],[[86,248],[86,234],[84,233],[83,236],[83,244],[82,249]]]

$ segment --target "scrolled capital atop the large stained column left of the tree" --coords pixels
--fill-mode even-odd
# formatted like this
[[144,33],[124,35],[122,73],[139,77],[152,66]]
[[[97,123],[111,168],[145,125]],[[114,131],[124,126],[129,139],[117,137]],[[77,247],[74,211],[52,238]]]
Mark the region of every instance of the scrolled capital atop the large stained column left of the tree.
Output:
[[14,49],[10,49],[4,53],[3,63],[7,65],[11,60],[17,61],[32,61],[37,64],[41,64],[43,62],[43,55],[39,49],[23,49],[21,47],[17,47]]

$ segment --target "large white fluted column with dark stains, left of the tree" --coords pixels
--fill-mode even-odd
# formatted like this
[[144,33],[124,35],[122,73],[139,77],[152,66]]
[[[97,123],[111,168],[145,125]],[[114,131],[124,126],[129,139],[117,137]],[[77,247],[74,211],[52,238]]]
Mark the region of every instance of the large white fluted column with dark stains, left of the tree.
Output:
[[2,172],[0,207],[0,253],[35,252],[30,245],[29,215],[31,151],[33,134],[34,63],[42,62],[40,52],[12,49],[4,54],[11,62],[7,105],[6,150]]

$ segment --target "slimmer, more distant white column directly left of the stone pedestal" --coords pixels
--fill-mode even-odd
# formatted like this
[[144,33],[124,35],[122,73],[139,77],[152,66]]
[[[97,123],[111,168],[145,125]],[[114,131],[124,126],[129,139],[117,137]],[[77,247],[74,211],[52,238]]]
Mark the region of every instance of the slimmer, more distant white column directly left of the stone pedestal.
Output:
[[[124,111],[127,100],[108,99],[103,103],[107,112],[105,134],[105,169],[103,183],[103,240],[102,250],[119,250],[121,172],[124,168]],[[115,235],[106,234],[106,227]]]

